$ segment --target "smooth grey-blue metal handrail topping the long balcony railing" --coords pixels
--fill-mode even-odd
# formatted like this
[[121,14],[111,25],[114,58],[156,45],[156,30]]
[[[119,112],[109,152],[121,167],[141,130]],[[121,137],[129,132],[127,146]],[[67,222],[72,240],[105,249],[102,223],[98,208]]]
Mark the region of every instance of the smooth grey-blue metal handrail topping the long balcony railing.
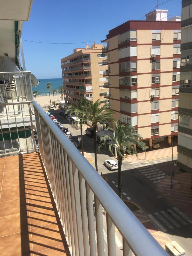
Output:
[[[92,165],[84,158],[79,150],[68,140],[66,136],[50,120],[44,110],[33,101],[34,108],[49,126],[60,145],[72,159],[79,172],[96,195],[101,205],[111,217],[115,226],[119,229],[124,239],[129,244],[133,253],[137,256],[165,256],[167,253],[141,224],[137,217],[123,203],[113,189],[102,179]],[[78,156],[78,157],[77,157]],[[110,203],[111,202],[111,203]]]

